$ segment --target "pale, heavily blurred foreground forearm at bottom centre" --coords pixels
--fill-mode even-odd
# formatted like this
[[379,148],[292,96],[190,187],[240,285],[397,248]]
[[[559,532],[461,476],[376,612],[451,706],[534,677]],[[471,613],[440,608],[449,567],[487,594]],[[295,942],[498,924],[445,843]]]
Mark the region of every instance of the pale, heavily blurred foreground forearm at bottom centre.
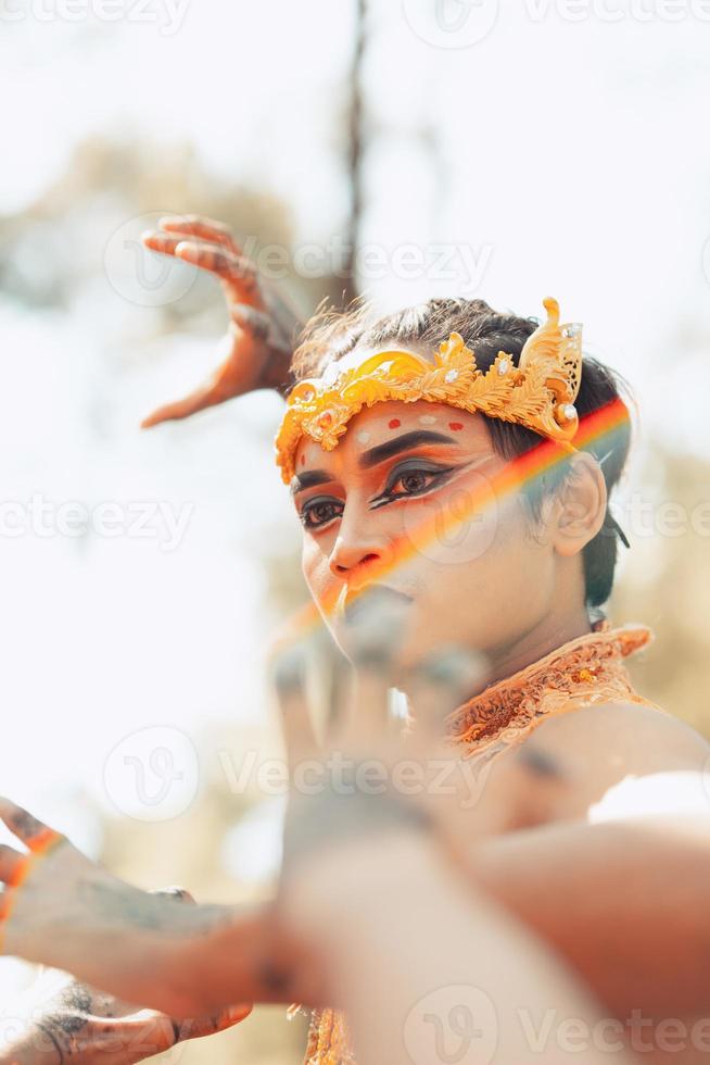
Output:
[[[542,1049],[556,1065],[569,1061],[557,1025],[591,1029],[599,1019],[553,953],[458,877],[432,841],[347,844],[309,874],[297,916],[320,944],[328,1004],[345,1010],[364,1065],[439,1061],[444,1047],[456,1060],[487,1061],[495,1050],[502,1065],[521,1065],[540,1058],[535,1040],[550,1016]],[[584,1061],[608,1056],[589,1044]]]

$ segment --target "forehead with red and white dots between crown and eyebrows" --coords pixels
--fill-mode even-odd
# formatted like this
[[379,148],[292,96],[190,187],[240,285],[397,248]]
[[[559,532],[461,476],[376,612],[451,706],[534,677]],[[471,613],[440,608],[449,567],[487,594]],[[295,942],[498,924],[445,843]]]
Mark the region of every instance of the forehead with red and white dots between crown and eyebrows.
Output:
[[[304,436],[295,453],[296,473],[307,467],[329,468],[333,464],[356,462],[362,452],[417,430],[441,434],[464,451],[487,453],[493,450],[480,414],[427,400],[417,400],[415,403],[393,400],[375,403],[354,415],[334,451],[326,451],[315,440]],[[424,443],[422,447],[432,444]]]

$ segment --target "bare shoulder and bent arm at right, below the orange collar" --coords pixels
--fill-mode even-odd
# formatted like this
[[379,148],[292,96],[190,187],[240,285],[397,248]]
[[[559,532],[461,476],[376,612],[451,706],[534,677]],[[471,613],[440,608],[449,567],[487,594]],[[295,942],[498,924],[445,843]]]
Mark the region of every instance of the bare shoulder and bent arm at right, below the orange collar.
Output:
[[710,748],[632,705],[553,719],[493,768],[474,881],[561,951],[614,1016],[710,1004]]

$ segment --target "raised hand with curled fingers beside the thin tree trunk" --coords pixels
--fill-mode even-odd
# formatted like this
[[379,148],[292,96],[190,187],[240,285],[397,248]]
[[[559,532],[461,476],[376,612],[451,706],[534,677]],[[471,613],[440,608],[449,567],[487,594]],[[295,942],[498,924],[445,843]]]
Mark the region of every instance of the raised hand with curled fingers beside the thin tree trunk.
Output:
[[289,366],[301,323],[277,286],[259,277],[229,229],[196,214],[166,217],[161,218],[159,230],[143,235],[143,243],[218,277],[229,313],[215,373],[185,399],[150,414],[143,428],[189,417],[258,388],[284,392],[291,383]]

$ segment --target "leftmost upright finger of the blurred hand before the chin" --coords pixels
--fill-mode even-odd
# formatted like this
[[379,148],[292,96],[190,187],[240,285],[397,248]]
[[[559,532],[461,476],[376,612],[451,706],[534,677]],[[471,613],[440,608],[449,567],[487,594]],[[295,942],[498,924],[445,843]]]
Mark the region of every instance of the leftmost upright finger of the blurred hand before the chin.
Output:
[[307,669],[308,649],[304,641],[279,649],[270,663],[291,777],[299,763],[320,754],[306,694]]

